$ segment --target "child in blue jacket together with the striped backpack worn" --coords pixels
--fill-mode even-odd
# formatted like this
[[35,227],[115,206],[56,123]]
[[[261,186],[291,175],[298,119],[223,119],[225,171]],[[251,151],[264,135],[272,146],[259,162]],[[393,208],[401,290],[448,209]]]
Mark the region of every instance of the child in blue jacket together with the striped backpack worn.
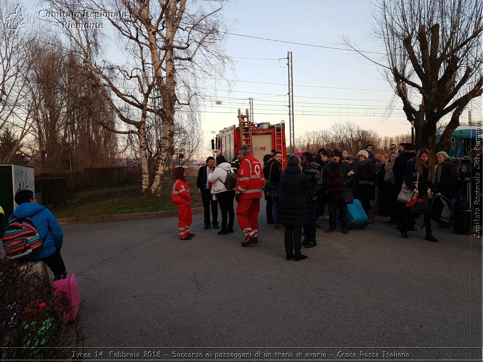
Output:
[[67,275],[60,249],[64,233],[56,218],[45,206],[37,204],[32,190],[17,191],[18,207],[10,217],[2,238],[5,255],[15,261],[42,260],[55,279]]

